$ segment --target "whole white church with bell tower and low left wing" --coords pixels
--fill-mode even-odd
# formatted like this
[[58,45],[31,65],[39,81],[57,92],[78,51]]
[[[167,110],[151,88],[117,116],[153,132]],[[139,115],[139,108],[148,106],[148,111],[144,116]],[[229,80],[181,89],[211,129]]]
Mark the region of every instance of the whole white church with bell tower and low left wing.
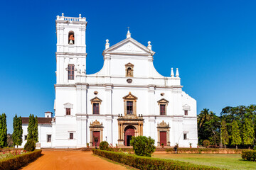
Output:
[[102,69],[87,74],[86,18],[63,14],[55,23],[55,116],[46,113],[38,120],[41,147],[86,147],[102,141],[129,146],[132,136],[139,135],[150,136],[156,146],[197,146],[196,100],[182,91],[178,69],[174,75],[171,68],[170,77],[156,71],[151,42],[142,45],[129,30],[115,45],[106,40]]

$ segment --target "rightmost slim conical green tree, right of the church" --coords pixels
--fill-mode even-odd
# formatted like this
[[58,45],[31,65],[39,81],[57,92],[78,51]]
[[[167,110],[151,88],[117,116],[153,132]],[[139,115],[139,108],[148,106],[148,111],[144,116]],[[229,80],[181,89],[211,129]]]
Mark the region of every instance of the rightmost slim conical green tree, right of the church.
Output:
[[253,145],[254,130],[252,121],[245,118],[245,123],[242,125],[242,140],[244,145]]

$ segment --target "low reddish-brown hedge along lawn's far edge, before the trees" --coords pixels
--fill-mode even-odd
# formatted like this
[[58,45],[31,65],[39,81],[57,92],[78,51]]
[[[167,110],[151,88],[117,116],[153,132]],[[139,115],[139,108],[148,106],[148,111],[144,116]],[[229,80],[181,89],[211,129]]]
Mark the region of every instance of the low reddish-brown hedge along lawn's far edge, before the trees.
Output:
[[[241,154],[248,149],[217,149],[217,148],[178,148],[178,153],[186,154]],[[166,152],[173,152],[174,148],[166,149]]]

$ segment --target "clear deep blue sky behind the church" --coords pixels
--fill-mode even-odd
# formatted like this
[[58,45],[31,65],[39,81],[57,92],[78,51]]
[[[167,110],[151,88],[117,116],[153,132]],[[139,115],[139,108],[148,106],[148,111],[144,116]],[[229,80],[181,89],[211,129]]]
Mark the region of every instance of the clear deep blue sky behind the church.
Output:
[[103,65],[105,40],[150,40],[156,70],[178,67],[198,113],[255,104],[256,1],[1,1],[0,113],[44,116],[55,98],[55,18],[87,18],[87,74]]

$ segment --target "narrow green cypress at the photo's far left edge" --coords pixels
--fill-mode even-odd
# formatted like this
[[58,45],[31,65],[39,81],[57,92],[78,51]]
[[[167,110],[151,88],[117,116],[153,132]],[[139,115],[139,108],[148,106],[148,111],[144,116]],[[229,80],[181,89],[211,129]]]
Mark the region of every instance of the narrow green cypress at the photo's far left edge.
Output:
[[6,114],[1,115],[0,123],[0,147],[7,146],[7,124],[6,124]]

